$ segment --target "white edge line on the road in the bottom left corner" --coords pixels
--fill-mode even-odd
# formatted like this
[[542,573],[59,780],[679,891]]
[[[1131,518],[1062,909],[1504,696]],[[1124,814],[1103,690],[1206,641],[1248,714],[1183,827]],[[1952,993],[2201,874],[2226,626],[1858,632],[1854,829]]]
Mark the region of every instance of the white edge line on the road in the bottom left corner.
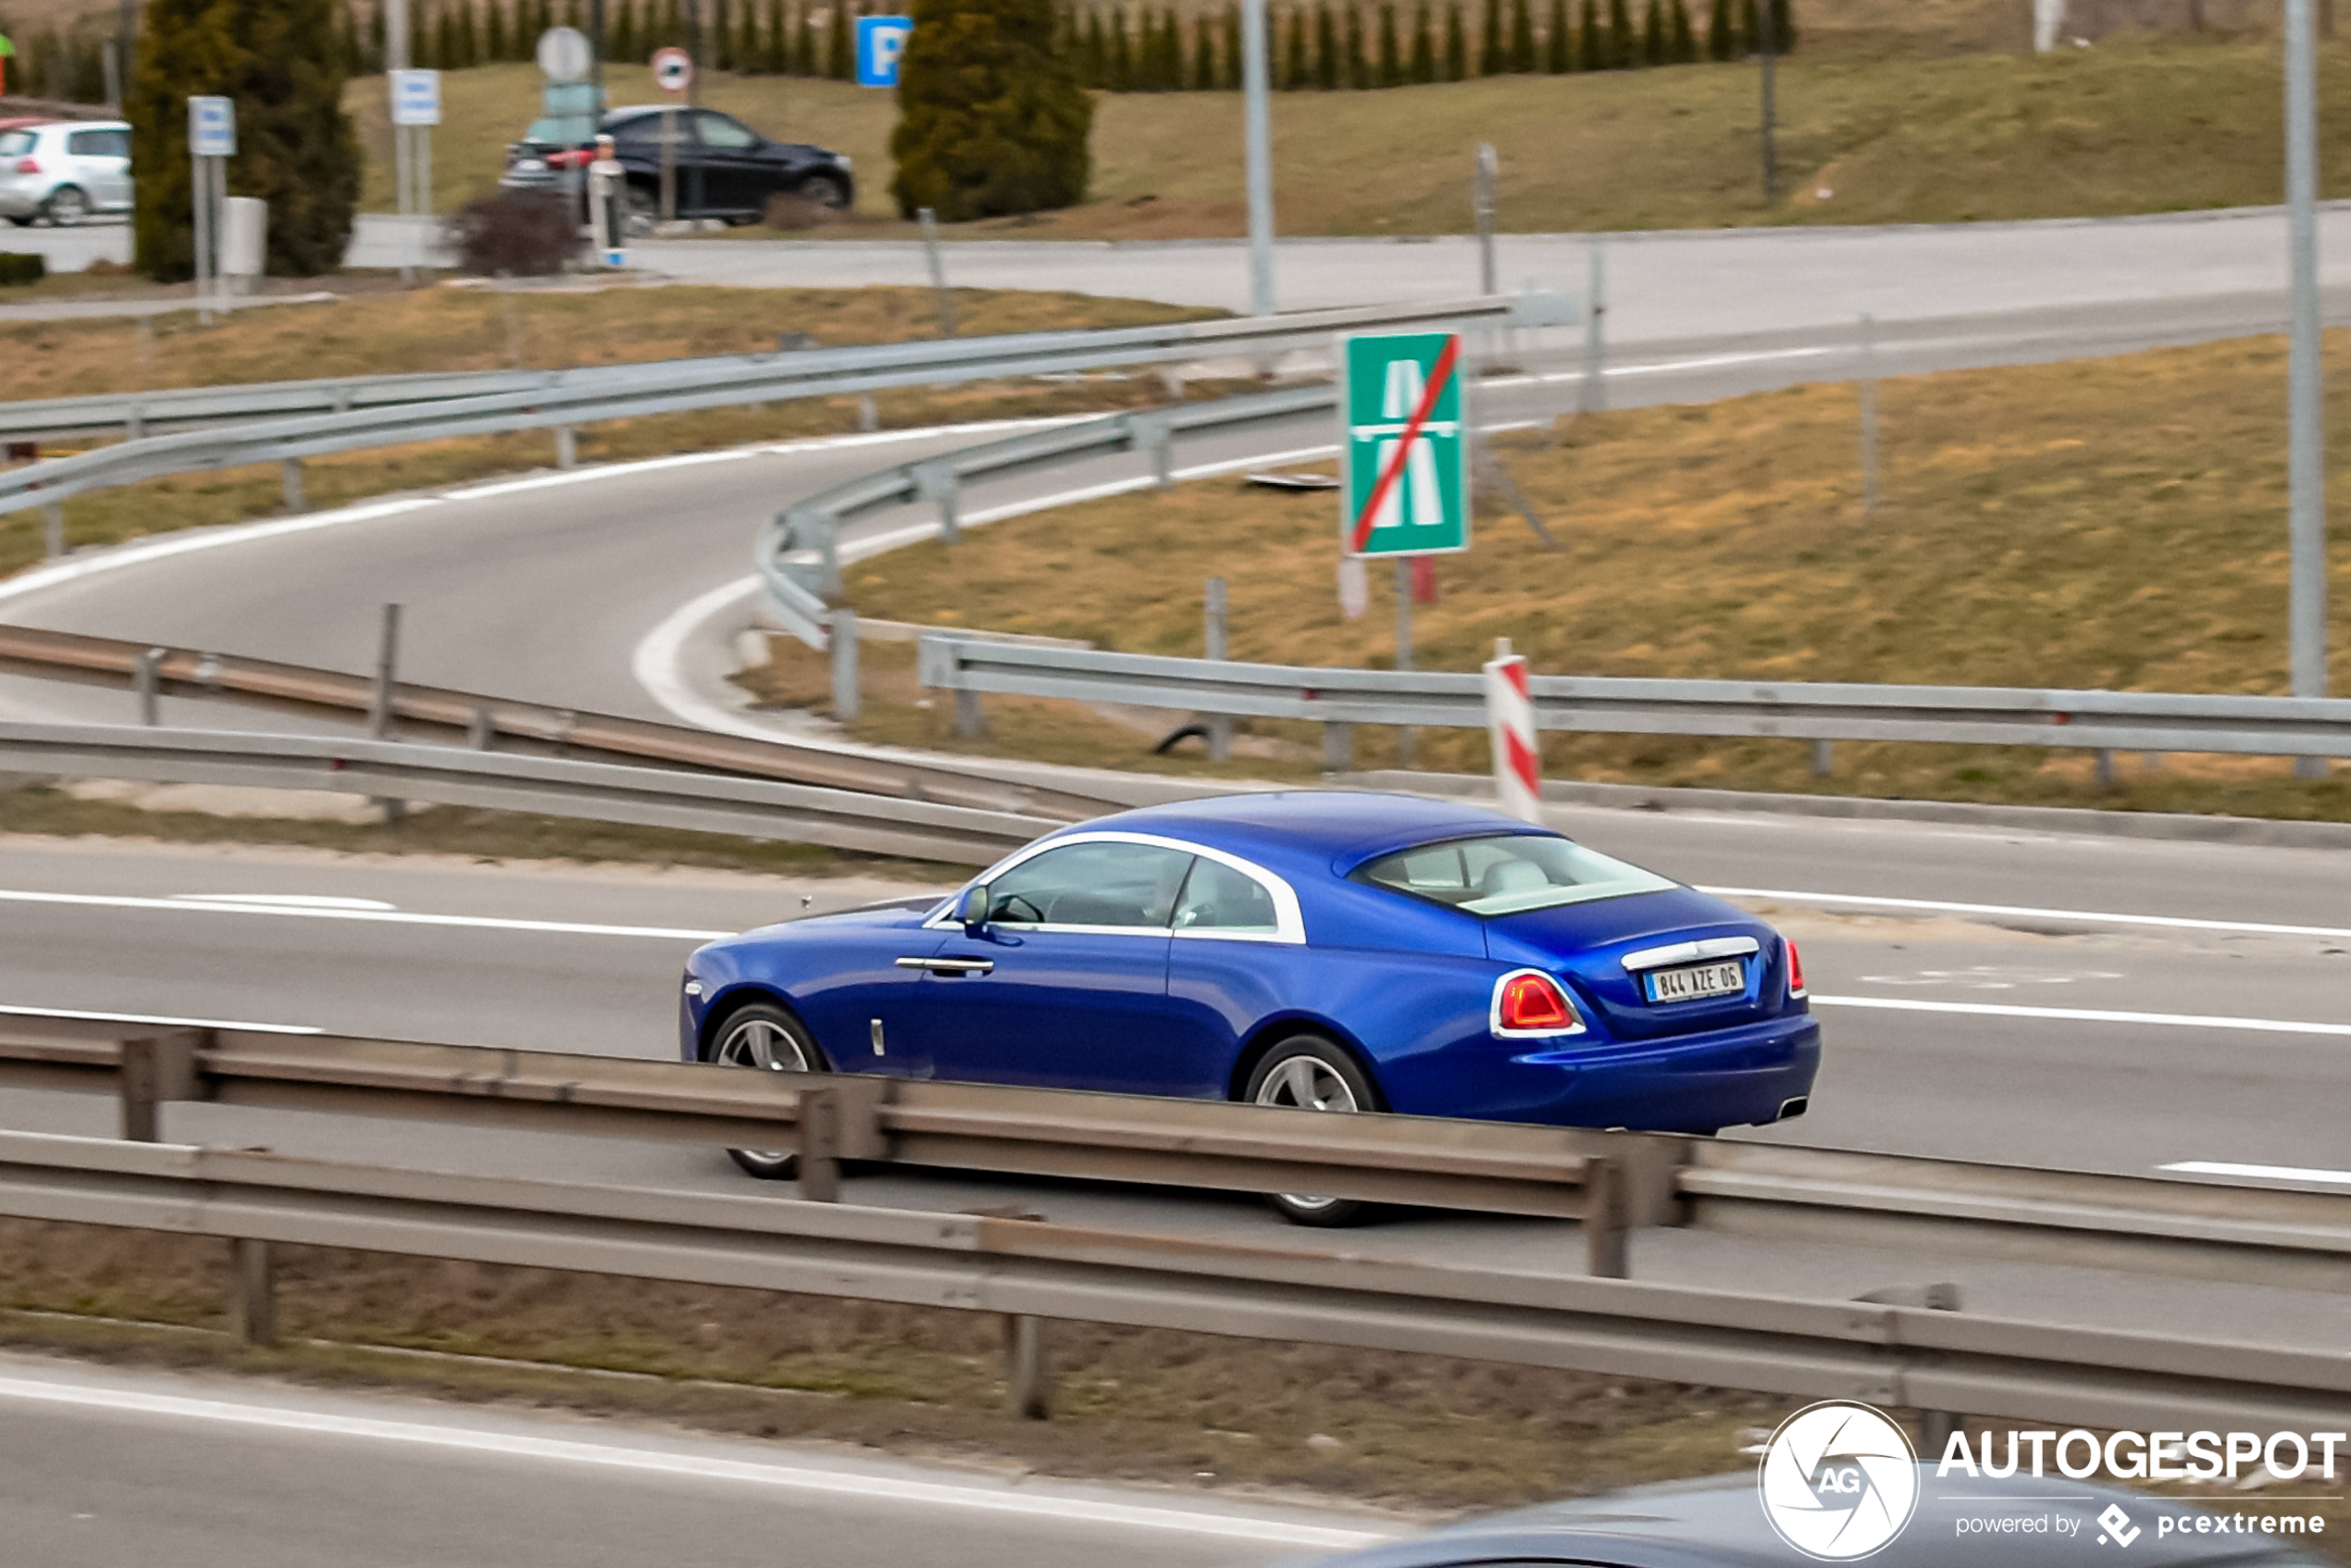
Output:
[[75,1387],[59,1382],[35,1382],[28,1378],[0,1378],[0,1399],[31,1403],[78,1406],[94,1410],[162,1415],[186,1422],[219,1422],[230,1427],[259,1427],[266,1432],[294,1432],[301,1436],[343,1436],[379,1443],[411,1443],[418,1448],[454,1448],[458,1453],[489,1453],[517,1460],[548,1460],[555,1465],[590,1465],[597,1469],[623,1469],[654,1476],[677,1476],[684,1481],[741,1481],[748,1486],[778,1486],[804,1493],[830,1493],[837,1497],[860,1497],[891,1505],[926,1505],[971,1509],[980,1514],[1011,1514],[1018,1519],[1041,1519],[1056,1523],[1098,1523],[1143,1530],[1178,1530],[1185,1535],[1213,1535],[1223,1540],[1272,1542],[1286,1547],[1310,1547],[1321,1552],[1345,1552],[1392,1540],[1375,1530],[1342,1530],[1335,1526],[1310,1526],[1286,1519],[1253,1519],[1246,1514],[1211,1514],[1180,1507],[1154,1507],[1143,1502],[1107,1502],[1100,1497],[1072,1497],[1041,1490],[997,1490],[983,1486],[957,1486],[950,1481],[917,1481],[912,1476],[879,1476],[846,1469],[811,1469],[802,1465],[773,1465],[752,1460],[724,1460],[708,1453],[665,1453],[658,1448],[621,1448],[614,1443],[583,1443],[576,1439],[527,1436],[520,1432],[482,1432],[468,1427],[442,1427],[423,1420],[386,1420],[364,1415],[331,1415],[322,1410],[287,1410],[259,1403],[235,1403],[226,1399],[188,1399],[183,1394],[143,1394],[136,1389]]

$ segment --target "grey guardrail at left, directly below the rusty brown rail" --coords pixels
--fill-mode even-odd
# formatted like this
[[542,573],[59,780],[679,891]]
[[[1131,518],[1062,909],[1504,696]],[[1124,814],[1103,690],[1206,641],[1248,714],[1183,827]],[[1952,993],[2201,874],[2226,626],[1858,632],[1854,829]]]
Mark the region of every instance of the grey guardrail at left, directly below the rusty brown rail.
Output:
[[534,811],[987,865],[1058,820],[724,773],[454,745],[129,724],[0,722],[0,773],[134,778]]

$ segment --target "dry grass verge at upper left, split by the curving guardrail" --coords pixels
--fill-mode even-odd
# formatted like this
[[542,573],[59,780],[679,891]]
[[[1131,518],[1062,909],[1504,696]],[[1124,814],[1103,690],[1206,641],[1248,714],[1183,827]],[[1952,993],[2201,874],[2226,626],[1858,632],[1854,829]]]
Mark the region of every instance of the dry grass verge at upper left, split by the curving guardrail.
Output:
[[[1081,294],[957,289],[969,336],[1046,327],[1133,327],[1204,313]],[[564,369],[762,353],[783,331],[823,346],[886,343],[936,334],[929,289],[602,289],[602,292],[381,292],[322,306],[273,306],[197,327],[195,315],[0,324],[0,364],[21,397],[68,397],[143,388],[219,386],[308,376],[458,369]],[[1016,414],[1070,414],[1157,397],[1157,381],[1081,381],[971,388],[907,388],[877,397],[884,425],[947,423]],[[769,409],[710,409],[611,421],[578,433],[581,461],[701,451],[745,442],[832,435],[856,428],[856,400],[804,400]],[[426,489],[496,473],[545,468],[548,433],[468,437],[310,458],[313,508],[388,491]],[[101,545],[280,510],[270,468],[223,468],[103,489],[66,503],[68,545]],[[38,512],[0,517],[0,574],[40,559]]]

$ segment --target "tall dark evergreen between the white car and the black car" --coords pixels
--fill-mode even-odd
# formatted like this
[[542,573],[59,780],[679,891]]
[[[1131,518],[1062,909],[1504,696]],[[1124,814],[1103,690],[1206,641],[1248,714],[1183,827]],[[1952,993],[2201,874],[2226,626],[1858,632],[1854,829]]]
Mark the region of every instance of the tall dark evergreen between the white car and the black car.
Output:
[[266,266],[313,277],[343,266],[360,197],[360,136],[343,113],[334,0],[148,0],[125,92],[139,167],[139,270],[195,273],[188,94],[237,101],[230,195],[270,205]]

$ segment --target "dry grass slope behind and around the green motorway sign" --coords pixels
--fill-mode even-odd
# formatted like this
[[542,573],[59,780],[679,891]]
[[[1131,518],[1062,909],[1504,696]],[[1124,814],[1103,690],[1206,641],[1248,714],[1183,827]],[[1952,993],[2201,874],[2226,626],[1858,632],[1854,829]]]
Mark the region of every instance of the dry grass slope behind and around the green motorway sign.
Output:
[[[1415,614],[1415,663],[1472,670],[1509,637],[1538,672],[2283,691],[2283,386],[2278,339],[1886,381],[1876,517],[1862,515],[1850,386],[1505,437],[1505,461],[1563,548],[1542,550],[1514,515],[1486,515],[1476,548],[1436,567],[1441,604]],[[2332,440],[2351,440],[2339,390],[2330,409]],[[1387,665],[1387,581],[1373,574],[1373,614],[1342,621],[1335,531],[1331,494],[1215,480],[992,524],[955,550],[898,550],[851,569],[849,595],[868,616],[1197,656],[1199,585],[1220,574],[1237,658]],[[2335,538],[2344,581],[2342,524]],[[743,679],[771,701],[820,701],[813,656],[788,639],[776,649]],[[2344,595],[2332,649],[2344,689]],[[964,745],[952,703],[922,705],[903,651],[870,658],[856,733]],[[1086,708],[987,703],[983,745],[1171,766],[1145,755],[1154,733]],[[1305,726],[1244,729],[1232,764],[1173,766],[1319,769]],[[1357,757],[1389,764],[1392,738],[1359,731]],[[1483,733],[1422,731],[1420,764],[1483,771]],[[2297,783],[2278,759],[2125,764],[2102,792],[2088,755],[2041,748],[1846,743],[1834,778],[1813,780],[1810,745],[1796,741],[1545,741],[1552,778],[2351,818],[2351,778]]]

